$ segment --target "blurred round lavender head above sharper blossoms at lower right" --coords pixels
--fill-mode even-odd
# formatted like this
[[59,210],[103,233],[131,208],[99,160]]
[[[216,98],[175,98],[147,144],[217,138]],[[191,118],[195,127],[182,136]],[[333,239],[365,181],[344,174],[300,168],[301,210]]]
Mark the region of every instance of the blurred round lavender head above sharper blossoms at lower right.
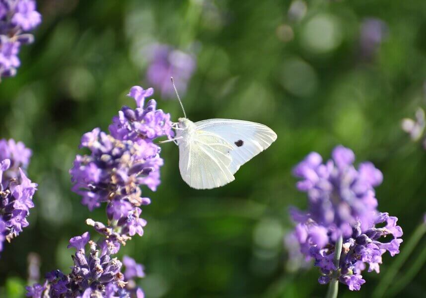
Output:
[[298,190],[306,192],[309,199],[309,211],[295,212],[293,217],[311,218],[332,230],[336,240],[340,232],[350,236],[358,220],[363,227],[373,222],[377,207],[374,186],[382,182],[383,176],[371,162],[355,169],[351,149],[337,146],[332,156],[323,164],[321,155],[312,152],[293,169],[294,175],[303,179],[297,182]]

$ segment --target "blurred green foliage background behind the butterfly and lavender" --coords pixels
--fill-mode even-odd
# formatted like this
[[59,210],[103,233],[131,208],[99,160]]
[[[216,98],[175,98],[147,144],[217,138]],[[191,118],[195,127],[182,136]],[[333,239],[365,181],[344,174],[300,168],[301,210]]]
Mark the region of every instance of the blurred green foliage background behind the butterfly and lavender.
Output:
[[[283,246],[290,205],[306,207],[291,168],[308,152],[325,159],[338,144],[372,161],[384,175],[379,210],[399,218],[406,241],[426,210],[426,151],[400,121],[425,107],[425,0],[38,0],[42,25],[21,49],[22,66],[0,84],[1,138],[33,150],[29,177],[39,184],[30,225],[0,259],[0,293],[22,297],[27,255],[41,275],[68,273],[68,240],[89,230],[90,213],[71,192],[68,170],[81,135],[107,130],[133,85],[149,87],[143,47],[160,42],[189,51],[197,68],[186,94],[188,117],[261,122],[278,134],[231,184],[197,191],[180,178],[178,149],[162,145],[165,165],[143,237],[120,251],[145,265],[153,297],[323,297],[317,269],[291,272]],[[372,21],[372,22],[371,22]],[[176,100],[154,93],[173,120]],[[401,251],[404,250],[402,243]],[[403,265],[408,270],[425,239]],[[381,274],[365,272],[369,297]],[[426,270],[399,293],[425,297]],[[2,291],[2,292],[1,292]],[[8,291],[8,292],[6,292]],[[8,293],[8,294],[5,294]],[[5,297],[6,297],[5,296]]]

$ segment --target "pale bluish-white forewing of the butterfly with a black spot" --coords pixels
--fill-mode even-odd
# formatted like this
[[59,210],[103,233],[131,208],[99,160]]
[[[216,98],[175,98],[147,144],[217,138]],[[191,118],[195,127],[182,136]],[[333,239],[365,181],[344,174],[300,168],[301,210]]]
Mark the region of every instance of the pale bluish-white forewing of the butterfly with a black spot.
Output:
[[267,149],[277,140],[277,134],[266,125],[232,119],[209,119],[195,123],[196,130],[212,133],[232,146],[228,169],[232,174],[241,165]]

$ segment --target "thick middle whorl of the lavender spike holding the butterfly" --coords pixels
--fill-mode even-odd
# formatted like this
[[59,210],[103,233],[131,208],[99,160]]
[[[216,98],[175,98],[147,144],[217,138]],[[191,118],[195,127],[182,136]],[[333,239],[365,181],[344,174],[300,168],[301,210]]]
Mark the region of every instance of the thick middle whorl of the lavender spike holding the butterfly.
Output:
[[[88,138],[91,139],[85,141]],[[81,203],[90,211],[102,202],[108,202],[111,212],[114,209],[116,215],[129,211],[124,210],[128,205],[117,203],[120,200],[135,206],[149,202],[141,197],[139,185],[145,184],[155,190],[159,179],[154,181],[147,177],[159,169],[163,160],[158,155],[156,145],[145,141],[140,144],[142,146],[132,141],[114,139],[100,129],[83,135],[81,145],[92,153],[77,155],[70,174],[74,183],[72,191],[82,196]]]

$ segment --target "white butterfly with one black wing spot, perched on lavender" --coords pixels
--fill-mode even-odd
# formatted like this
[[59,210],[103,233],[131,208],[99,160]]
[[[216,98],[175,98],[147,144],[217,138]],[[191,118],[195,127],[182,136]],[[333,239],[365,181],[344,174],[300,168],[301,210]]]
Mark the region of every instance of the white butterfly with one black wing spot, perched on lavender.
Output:
[[[173,83],[173,78],[172,78]],[[173,87],[176,90],[176,87]],[[235,179],[241,165],[267,149],[277,140],[269,127],[255,122],[232,119],[209,119],[192,122],[184,118],[173,123],[179,147],[179,170],[182,179],[195,189],[212,189]]]

